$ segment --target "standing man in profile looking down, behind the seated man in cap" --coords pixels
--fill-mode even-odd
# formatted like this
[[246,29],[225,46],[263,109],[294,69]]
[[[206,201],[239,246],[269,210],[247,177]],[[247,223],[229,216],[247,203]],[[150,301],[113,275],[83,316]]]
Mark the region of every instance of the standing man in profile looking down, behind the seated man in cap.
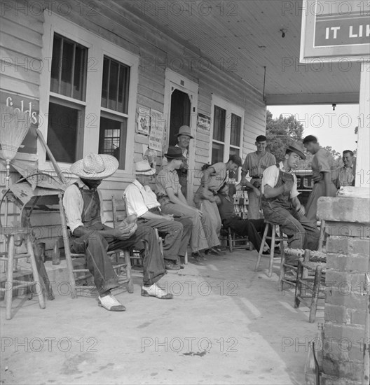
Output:
[[306,204],[306,217],[309,221],[313,221],[316,224],[317,200],[320,197],[336,196],[337,174],[333,170],[333,157],[329,151],[320,146],[316,137],[308,135],[303,139],[303,145],[307,151],[314,155],[311,164],[314,184]]

